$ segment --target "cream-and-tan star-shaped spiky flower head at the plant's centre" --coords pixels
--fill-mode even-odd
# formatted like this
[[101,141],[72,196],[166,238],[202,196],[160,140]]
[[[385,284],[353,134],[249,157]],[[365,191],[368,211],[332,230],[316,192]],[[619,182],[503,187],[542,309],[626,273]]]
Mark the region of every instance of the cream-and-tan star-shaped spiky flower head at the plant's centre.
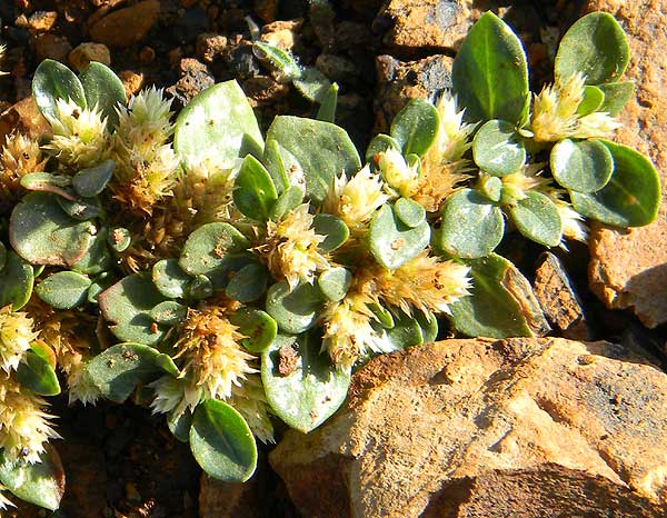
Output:
[[273,278],[295,288],[300,281],[312,282],[317,271],[330,267],[318,249],[323,240],[325,236],[315,231],[309,205],[302,203],[282,220],[267,222],[266,242],[257,251],[266,258]]

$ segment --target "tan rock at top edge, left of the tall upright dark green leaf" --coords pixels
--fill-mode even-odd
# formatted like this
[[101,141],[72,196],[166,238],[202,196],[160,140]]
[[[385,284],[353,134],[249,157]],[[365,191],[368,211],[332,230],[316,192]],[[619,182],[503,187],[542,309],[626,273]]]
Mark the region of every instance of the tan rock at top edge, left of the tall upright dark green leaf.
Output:
[[472,20],[465,0],[390,0],[374,21],[395,52],[416,54],[457,49]]

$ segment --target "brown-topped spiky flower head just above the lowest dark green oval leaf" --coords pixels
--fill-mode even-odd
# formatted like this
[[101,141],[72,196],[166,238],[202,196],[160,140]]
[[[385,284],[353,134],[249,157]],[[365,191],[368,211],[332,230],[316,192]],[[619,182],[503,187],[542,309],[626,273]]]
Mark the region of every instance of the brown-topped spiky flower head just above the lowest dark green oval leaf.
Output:
[[185,375],[203,391],[205,399],[228,399],[233,385],[241,385],[255,359],[240,346],[243,337],[222,307],[189,309],[176,342]]

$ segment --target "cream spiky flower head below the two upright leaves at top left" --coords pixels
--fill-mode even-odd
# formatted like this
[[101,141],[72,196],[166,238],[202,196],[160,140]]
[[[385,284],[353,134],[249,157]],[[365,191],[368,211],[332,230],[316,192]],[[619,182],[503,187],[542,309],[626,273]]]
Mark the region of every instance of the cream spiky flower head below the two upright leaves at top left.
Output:
[[53,138],[44,149],[66,166],[87,168],[109,156],[107,118],[93,108],[81,108],[72,99],[58,99],[54,114],[47,114]]

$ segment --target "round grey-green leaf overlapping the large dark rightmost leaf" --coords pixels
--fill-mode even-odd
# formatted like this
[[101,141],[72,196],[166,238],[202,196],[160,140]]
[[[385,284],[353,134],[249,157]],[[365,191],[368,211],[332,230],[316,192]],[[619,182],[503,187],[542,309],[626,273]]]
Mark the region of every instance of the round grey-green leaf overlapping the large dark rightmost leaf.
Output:
[[578,192],[594,192],[607,185],[614,159],[597,140],[561,140],[551,149],[551,172],[558,183]]

